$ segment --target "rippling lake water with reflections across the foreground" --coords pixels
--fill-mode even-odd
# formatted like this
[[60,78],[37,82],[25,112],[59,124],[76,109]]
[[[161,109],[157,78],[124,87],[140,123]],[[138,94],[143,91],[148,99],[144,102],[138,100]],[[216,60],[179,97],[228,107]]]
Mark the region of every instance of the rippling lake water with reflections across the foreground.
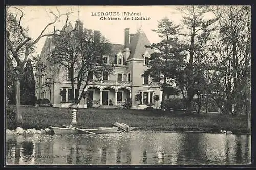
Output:
[[6,136],[8,165],[234,165],[251,163],[251,135],[131,131]]

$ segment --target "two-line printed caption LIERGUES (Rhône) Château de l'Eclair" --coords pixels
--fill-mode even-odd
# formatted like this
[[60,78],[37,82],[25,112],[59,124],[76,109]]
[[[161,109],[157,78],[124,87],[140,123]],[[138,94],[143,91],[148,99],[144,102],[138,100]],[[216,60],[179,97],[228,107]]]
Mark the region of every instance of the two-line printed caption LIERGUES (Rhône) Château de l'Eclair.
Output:
[[97,17],[102,21],[112,20],[128,20],[128,21],[142,21],[150,20],[150,17],[143,16],[141,12],[91,12],[91,16]]

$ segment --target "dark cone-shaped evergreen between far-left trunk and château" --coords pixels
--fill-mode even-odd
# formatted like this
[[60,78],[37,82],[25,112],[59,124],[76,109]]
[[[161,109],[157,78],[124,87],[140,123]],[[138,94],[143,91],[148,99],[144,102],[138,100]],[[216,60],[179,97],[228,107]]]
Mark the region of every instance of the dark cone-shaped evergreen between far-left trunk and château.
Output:
[[34,105],[35,99],[35,78],[30,59],[27,60],[23,74],[20,78],[20,100],[24,105]]

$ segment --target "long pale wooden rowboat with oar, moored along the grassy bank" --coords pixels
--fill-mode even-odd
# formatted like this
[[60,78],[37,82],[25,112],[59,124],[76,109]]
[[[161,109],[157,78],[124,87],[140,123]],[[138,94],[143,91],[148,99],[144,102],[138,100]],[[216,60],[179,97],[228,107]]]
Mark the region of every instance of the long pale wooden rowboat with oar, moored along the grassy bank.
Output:
[[[51,127],[51,126],[50,126]],[[92,132],[95,134],[102,133],[117,133],[118,127],[102,127],[102,128],[62,128],[62,127],[51,127],[54,131],[54,134],[89,134]]]

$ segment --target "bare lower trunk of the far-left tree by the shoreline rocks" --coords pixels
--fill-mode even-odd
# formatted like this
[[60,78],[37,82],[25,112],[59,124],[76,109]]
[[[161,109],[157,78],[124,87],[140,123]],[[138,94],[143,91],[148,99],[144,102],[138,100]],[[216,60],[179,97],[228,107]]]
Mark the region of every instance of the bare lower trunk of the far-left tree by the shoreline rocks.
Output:
[[23,119],[22,119],[22,114],[20,113],[20,83],[19,83],[19,79],[15,80],[15,91],[16,91],[16,120],[17,120],[17,126],[22,126]]

